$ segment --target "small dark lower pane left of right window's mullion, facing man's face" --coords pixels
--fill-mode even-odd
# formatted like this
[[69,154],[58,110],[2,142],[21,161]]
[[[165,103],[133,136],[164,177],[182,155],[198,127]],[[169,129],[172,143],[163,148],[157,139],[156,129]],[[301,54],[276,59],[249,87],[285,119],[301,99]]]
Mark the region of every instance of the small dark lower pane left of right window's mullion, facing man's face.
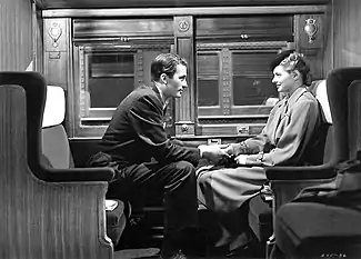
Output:
[[198,80],[198,106],[219,106],[218,80]]

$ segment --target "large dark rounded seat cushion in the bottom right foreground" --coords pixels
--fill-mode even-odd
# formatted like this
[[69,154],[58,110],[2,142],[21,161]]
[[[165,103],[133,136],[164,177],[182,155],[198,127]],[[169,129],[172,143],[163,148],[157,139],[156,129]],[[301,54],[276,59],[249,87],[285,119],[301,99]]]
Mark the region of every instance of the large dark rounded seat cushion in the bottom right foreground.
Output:
[[315,202],[282,206],[275,220],[277,246],[289,256],[319,257],[361,251],[361,211]]

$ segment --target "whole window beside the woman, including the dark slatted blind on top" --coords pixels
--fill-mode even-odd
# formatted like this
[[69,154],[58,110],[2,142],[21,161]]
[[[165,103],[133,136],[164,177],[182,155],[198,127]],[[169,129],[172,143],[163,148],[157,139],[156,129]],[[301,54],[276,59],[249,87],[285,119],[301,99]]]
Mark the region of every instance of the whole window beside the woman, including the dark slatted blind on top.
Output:
[[215,16],[195,22],[195,135],[259,133],[279,98],[269,63],[293,42],[293,17]]

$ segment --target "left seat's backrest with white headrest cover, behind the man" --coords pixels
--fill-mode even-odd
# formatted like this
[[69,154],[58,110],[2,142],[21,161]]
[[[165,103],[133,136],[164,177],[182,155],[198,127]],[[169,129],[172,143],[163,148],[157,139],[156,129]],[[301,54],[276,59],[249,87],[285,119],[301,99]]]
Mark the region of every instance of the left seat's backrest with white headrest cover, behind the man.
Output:
[[47,101],[42,120],[42,152],[57,169],[73,168],[73,159],[66,129],[66,93],[61,87],[47,87]]

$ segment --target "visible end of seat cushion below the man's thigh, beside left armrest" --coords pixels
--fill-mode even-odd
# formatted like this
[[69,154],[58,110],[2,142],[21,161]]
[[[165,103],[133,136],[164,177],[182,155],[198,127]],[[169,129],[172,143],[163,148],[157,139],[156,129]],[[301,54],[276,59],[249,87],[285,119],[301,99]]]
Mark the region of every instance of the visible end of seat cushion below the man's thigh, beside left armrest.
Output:
[[113,246],[117,246],[119,239],[126,228],[127,217],[124,213],[124,203],[120,200],[116,200],[118,202],[117,207],[112,210],[106,210],[107,216],[107,236],[113,242]]

